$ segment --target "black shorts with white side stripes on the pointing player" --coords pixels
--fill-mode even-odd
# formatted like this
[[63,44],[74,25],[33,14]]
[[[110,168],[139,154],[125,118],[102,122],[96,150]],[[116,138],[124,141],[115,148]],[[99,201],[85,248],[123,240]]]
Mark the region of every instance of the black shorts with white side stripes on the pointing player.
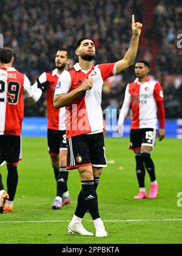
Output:
[[78,135],[67,139],[67,168],[81,166],[106,167],[103,132],[92,135]]

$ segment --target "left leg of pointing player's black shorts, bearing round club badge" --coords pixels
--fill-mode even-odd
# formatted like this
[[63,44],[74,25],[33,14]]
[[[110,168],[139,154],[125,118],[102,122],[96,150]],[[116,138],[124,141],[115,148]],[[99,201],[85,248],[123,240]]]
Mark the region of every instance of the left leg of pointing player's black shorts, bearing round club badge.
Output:
[[89,165],[92,164],[86,135],[67,138],[67,169],[77,169]]

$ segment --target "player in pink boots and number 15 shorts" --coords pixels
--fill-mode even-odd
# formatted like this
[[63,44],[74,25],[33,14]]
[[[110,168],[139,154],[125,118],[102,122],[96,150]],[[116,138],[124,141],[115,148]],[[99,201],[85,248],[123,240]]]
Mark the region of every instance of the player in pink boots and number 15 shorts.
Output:
[[[159,140],[165,137],[165,113],[163,103],[163,89],[160,82],[150,80],[149,63],[139,60],[135,65],[136,79],[126,87],[123,107],[121,108],[117,131],[123,130],[124,119],[132,107],[132,126],[130,130],[130,149],[135,152],[136,176],[140,193],[134,199],[147,198],[145,188],[145,174],[147,170],[151,184],[149,198],[153,199],[158,194],[158,182],[155,177],[155,165],[150,156],[155,144],[158,129]],[[158,118],[157,118],[158,114]]]

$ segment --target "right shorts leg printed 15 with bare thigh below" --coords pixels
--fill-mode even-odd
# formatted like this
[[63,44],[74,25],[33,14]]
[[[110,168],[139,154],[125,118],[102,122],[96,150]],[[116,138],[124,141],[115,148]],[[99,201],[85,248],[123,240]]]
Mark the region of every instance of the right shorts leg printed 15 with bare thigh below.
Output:
[[143,133],[143,139],[141,143],[142,151],[152,151],[155,146],[155,139],[157,130],[153,128],[141,129]]

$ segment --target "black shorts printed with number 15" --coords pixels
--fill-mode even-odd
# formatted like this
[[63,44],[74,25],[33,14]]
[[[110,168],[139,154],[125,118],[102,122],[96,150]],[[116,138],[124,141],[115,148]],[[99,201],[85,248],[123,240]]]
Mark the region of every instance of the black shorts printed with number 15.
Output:
[[154,148],[156,135],[156,129],[132,129],[130,131],[129,149],[141,149],[141,146],[150,146]]

